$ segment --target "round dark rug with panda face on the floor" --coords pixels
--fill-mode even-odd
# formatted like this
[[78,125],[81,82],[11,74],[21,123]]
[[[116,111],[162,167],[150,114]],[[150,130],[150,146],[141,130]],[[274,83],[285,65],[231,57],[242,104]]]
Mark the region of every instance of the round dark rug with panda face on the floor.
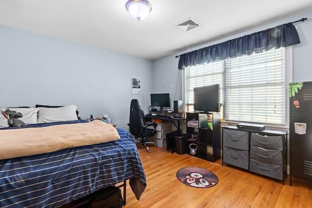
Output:
[[196,188],[209,188],[218,183],[215,173],[196,167],[182,168],[176,172],[176,177],[183,184]]

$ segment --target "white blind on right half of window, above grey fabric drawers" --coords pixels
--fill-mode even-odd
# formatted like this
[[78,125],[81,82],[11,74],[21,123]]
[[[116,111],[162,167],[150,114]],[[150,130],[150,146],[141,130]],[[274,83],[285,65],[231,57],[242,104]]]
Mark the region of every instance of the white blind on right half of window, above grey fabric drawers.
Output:
[[224,117],[285,124],[285,49],[225,61]]

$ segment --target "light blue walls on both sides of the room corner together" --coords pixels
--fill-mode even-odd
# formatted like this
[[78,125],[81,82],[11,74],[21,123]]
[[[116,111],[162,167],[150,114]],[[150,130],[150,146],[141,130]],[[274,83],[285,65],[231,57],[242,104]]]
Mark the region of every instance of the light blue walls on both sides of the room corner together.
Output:
[[[151,93],[170,93],[172,104],[182,99],[176,55],[301,18],[308,20],[295,23],[301,43],[293,46],[293,81],[312,81],[312,11],[156,61],[0,26],[0,107],[76,104],[82,118],[107,113],[127,129],[131,99],[145,112]],[[141,79],[141,95],[131,94],[131,77]]]

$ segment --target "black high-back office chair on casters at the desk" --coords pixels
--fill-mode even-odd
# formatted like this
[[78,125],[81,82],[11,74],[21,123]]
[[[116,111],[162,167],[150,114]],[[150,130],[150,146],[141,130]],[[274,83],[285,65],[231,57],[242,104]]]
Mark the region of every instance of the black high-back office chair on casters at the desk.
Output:
[[[157,124],[153,122],[144,122],[144,111],[140,108],[137,99],[131,100],[130,105],[130,121],[129,128],[130,133],[135,137],[136,144],[142,144],[146,147],[147,152],[150,153],[151,150],[148,148],[148,144],[153,144],[155,147],[157,145],[154,142],[148,142],[147,137],[154,136],[156,134]],[[153,128],[148,128],[152,126]]]

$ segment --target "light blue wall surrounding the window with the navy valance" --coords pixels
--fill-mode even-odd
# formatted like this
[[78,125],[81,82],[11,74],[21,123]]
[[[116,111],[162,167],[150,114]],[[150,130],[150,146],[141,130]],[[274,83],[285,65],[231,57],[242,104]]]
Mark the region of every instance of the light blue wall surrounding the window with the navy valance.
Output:
[[[299,81],[312,81],[312,11],[305,12],[296,16],[292,16],[286,19],[282,19],[280,21],[272,22],[270,24],[254,27],[253,30],[245,31],[233,36],[229,36],[227,38],[220,38],[218,40],[209,42],[207,44],[191,48],[187,51],[183,51],[168,57],[163,57],[157,59],[154,63],[154,92],[167,92],[168,91],[168,83],[171,80],[176,80],[178,75],[177,65],[178,65],[178,56],[180,54],[184,54],[190,51],[194,51],[200,48],[204,48],[210,45],[218,44],[230,39],[242,37],[245,35],[252,34],[254,32],[266,30],[268,28],[275,27],[280,24],[296,21],[298,19],[308,18],[304,22],[294,23],[297,26],[297,31],[300,37],[300,44],[293,46],[293,82]],[[198,28],[200,29],[200,28]],[[213,30],[213,28],[212,28]],[[192,32],[192,31],[189,31]],[[180,81],[178,83],[176,91],[175,100],[182,98],[182,88],[181,88],[181,74]],[[173,97],[173,95],[171,95]]]

